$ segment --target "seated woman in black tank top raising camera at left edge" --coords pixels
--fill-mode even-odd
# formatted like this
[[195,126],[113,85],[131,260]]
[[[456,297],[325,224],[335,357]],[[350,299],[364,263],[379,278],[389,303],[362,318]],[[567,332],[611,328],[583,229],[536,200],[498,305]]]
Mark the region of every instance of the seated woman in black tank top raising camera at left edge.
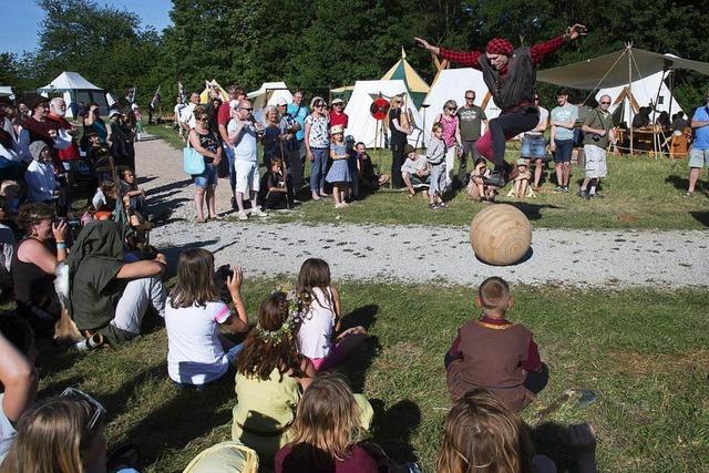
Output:
[[18,214],[25,237],[12,256],[14,298],[18,313],[39,332],[51,331],[61,316],[54,276],[56,265],[66,259],[66,224],[55,224],[55,217],[49,205],[39,202],[23,205]]

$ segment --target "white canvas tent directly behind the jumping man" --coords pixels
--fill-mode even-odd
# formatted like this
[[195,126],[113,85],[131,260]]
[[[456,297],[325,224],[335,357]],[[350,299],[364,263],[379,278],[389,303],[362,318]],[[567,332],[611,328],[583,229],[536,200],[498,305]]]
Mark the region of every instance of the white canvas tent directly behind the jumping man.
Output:
[[421,115],[425,117],[427,127],[430,130],[435,117],[443,112],[446,100],[454,100],[458,106],[464,105],[467,90],[475,91],[475,105],[483,107],[487,120],[500,115],[500,107],[489,95],[482,72],[472,68],[443,69],[438,73],[431,91],[423,100],[423,105],[429,106],[422,106],[420,110]]

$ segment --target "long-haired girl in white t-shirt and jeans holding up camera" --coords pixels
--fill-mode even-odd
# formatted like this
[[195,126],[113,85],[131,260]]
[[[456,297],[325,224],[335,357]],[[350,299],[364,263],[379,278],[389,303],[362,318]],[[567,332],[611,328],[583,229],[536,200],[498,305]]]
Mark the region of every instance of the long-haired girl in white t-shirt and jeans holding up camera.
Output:
[[[242,299],[242,268],[232,275],[214,273],[214,255],[202,248],[179,255],[177,284],[165,309],[167,372],[178,384],[204,385],[222,378],[244,348],[220,333],[248,330],[248,316]],[[219,300],[217,277],[226,276],[237,317]]]

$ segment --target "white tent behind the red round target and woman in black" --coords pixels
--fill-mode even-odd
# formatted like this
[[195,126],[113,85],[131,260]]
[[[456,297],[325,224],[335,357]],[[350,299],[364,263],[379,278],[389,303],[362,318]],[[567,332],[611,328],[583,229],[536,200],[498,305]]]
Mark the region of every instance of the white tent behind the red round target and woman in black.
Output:
[[[413,104],[407,84],[400,79],[392,81],[357,81],[352,95],[345,107],[345,113],[349,116],[349,126],[345,134],[352,135],[354,141],[364,143],[367,147],[383,147],[384,136],[381,133],[381,122],[378,122],[371,115],[370,106],[379,94],[387,100],[391,100],[392,96],[401,93],[407,94],[407,103]],[[429,131],[424,133],[423,119],[419,111],[413,106],[409,110],[415,125],[413,133],[409,135],[409,143],[421,147],[424,141],[428,141],[430,133]],[[430,124],[427,123],[427,127],[430,128]]]

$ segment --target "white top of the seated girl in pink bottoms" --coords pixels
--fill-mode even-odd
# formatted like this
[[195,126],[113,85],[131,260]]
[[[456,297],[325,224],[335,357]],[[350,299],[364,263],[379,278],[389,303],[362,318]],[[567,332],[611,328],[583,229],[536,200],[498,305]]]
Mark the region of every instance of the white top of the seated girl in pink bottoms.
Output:
[[[330,300],[332,291],[327,288]],[[332,330],[335,329],[335,307],[327,304],[325,291],[318,287],[312,289],[316,299],[302,316],[298,340],[300,352],[311,360],[327,358],[332,348]]]

